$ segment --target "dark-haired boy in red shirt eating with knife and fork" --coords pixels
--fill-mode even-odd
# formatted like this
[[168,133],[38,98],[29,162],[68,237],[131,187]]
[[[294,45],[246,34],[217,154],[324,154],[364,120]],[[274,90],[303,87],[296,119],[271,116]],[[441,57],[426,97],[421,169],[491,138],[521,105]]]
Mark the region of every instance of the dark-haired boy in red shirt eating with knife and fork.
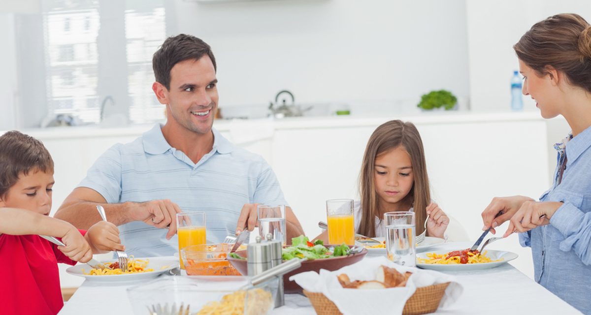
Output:
[[[100,221],[86,232],[49,217],[53,160],[37,139],[0,136],[0,305],[3,314],[57,314],[63,307],[57,262],[124,250],[119,230]],[[18,208],[18,209],[17,209]],[[61,238],[56,246],[38,235]]]

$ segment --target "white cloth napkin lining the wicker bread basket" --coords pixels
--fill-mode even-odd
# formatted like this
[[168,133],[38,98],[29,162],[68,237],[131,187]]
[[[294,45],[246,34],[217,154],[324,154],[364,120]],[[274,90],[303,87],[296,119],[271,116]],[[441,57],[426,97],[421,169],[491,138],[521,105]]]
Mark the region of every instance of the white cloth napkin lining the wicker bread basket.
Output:
[[[407,286],[401,288],[387,288],[377,290],[360,290],[343,288],[337,276],[347,274],[351,281],[375,280],[379,266],[396,268],[398,272],[413,272],[408,278]],[[441,272],[424,270],[413,267],[403,267],[388,260],[384,256],[365,258],[356,264],[340,268],[337,271],[320,270],[320,274],[314,271],[302,272],[290,277],[304,290],[314,293],[323,293],[333,301],[340,312],[348,314],[401,314],[404,304],[413,295],[418,287],[450,282],[446,293],[441,298],[440,307],[454,303],[462,294],[463,287],[455,277]]]

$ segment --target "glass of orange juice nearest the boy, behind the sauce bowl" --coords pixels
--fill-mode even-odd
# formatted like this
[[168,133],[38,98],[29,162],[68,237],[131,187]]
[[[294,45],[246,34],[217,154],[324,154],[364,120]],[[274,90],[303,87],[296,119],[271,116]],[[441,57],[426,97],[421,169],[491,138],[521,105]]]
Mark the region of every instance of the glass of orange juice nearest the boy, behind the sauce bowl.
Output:
[[181,269],[184,269],[181,249],[205,243],[205,213],[181,212],[177,213],[178,258]]

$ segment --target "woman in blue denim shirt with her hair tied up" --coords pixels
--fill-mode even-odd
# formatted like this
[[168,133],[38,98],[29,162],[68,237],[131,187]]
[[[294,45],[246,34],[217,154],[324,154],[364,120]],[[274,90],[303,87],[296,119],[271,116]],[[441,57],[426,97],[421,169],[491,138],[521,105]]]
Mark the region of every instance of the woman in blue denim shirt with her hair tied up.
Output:
[[553,185],[540,202],[495,198],[482,212],[484,228],[510,220],[504,236],[521,232],[519,243],[531,246],[535,281],[591,314],[591,26],[576,14],[554,15],[513,48],[524,95],[535,99],[543,118],[564,116],[572,132],[554,145]]

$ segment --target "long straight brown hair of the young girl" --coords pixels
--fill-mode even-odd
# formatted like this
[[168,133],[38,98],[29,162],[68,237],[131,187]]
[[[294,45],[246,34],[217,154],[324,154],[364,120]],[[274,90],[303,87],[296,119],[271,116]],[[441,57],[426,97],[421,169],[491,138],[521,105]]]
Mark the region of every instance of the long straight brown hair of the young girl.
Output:
[[[413,163],[414,183],[413,188],[404,198],[412,203],[415,212],[416,234],[423,233],[423,223],[427,218],[427,206],[431,203],[429,179],[427,176],[427,164],[423,141],[417,128],[411,122],[400,120],[385,122],[378,126],[369,137],[361,174],[359,174],[359,189],[361,190],[361,223],[358,233],[369,237],[375,236],[375,217],[379,215],[379,199],[375,192],[375,159],[394,148],[402,147],[410,155]],[[392,209],[404,210],[404,209]],[[382,218],[380,218],[382,219]]]

